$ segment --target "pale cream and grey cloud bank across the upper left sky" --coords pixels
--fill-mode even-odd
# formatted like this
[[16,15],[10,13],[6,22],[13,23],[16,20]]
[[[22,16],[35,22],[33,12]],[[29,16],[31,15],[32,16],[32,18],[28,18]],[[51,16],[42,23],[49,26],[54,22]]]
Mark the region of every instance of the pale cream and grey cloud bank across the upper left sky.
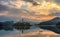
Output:
[[25,2],[22,0],[0,0],[0,4],[6,5],[10,8],[17,8],[17,9],[21,9],[21,8],[25,8],[25,7],[29,8],[32,6],[32,3]]

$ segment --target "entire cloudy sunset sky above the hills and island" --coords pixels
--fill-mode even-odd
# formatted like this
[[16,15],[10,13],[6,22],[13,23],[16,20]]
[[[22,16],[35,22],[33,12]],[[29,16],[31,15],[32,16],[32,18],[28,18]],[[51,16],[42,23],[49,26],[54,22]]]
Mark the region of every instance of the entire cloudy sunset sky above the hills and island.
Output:
[[0,21],[46,21],[60,17],[60,0],[0,0]]

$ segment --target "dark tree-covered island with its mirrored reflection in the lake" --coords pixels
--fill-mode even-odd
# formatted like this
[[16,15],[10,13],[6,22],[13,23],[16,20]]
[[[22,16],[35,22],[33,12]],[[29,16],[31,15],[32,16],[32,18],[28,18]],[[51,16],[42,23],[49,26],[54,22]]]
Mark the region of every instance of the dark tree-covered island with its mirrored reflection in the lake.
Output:
[[23,30],[30,29],[31,24],[28,22],[17,22],[13,26],[18,30],[22,30],[23,33]]

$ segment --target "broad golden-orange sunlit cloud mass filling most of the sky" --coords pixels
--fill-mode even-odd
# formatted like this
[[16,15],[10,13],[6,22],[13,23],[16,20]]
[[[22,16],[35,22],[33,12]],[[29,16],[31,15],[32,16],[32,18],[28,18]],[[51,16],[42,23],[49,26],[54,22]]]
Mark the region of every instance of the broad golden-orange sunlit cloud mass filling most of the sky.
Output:
[[[60,6],[54,2],[50,1],[42,1],[40,4],[36,6],[32,6],[32,3],[26,3],[24,1],[10,1],[10,7],[15,7],[16,9],[9,11],[9,13],[1,13],[0,15],[6,15],[9,17],[16,17],[16,18],[26,18],[29,20],[36,20],[36,21],[45,21],[51,20],[56,16],[52,15],[55,14],[56,11],[60,11]],[[20,10],[22,4],[25,6],[27,5],[26,10]],[[19,10],[18,10],[19,9]],[[51,15],[51,16],[49,16]]]

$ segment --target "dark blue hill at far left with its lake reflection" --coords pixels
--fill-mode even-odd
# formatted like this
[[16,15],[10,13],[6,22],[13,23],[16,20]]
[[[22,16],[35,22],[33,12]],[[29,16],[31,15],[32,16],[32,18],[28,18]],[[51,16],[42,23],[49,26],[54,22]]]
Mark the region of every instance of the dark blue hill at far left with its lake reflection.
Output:
[[5,21],[5,22],[0,22],[0,30],[13,30],[12,25],[14,24],[13,21]]

